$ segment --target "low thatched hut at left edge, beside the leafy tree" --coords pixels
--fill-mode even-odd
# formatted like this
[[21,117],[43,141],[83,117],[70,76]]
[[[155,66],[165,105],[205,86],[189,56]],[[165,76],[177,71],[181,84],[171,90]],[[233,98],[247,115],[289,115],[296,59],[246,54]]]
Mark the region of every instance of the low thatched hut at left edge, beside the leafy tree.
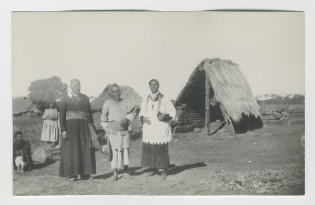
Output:
[[13,116],[25,114],[40,114],[41,111],[36,107],[29,97],[12,97]]

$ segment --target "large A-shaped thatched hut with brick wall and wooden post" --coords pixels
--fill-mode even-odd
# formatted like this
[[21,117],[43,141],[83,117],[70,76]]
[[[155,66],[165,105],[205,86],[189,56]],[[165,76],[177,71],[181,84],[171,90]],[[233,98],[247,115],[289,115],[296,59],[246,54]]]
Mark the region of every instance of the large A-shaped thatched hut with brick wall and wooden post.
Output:
[[181,128],[177,130],[206,125],[209,133],[209,123],[217,120],[225,121],[232,134],[262,126],[247,80],[230,60],[202,60],[179,93],[175,107],[177,127]]

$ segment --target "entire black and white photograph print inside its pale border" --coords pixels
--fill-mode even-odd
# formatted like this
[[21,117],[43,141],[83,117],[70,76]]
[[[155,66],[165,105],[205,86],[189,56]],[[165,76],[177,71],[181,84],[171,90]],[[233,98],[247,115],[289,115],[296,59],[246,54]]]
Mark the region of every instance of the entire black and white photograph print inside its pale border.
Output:
[[303,11],[11,26],[14,196],[305,195]]

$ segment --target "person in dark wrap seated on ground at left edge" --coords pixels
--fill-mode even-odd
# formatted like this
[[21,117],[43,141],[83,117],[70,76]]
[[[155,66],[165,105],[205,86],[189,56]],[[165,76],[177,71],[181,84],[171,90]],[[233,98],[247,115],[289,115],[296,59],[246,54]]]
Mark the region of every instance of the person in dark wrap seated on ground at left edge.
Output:
[[14,133],[13,139],[13,168],[18,172],[25,172],[33,169],[31,156],[31,146],[28,141],[23,139],[20,131]]

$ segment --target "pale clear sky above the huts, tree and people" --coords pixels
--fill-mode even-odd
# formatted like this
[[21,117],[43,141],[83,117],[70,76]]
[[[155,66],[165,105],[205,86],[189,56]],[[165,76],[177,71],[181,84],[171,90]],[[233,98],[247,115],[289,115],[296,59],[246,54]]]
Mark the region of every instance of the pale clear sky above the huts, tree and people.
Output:
[[176,99],[204,58],[239,65],[254,96],[304,94],[303,12],[13,12],[12,96],[59,76],[97,97],[112,83],[141,96],[152,78]]

